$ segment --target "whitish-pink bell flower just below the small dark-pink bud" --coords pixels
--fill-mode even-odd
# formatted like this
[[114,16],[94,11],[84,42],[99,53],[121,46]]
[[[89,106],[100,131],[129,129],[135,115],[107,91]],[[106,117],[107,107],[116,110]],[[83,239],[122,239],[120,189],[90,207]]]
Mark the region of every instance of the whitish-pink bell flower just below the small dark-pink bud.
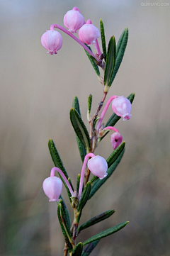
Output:
[[108,175],[107,174],[108,164],[106,160],[100,155],[96,155],[95,157],[92,157],[88,161],[88,168],[99,179],[103,179]]

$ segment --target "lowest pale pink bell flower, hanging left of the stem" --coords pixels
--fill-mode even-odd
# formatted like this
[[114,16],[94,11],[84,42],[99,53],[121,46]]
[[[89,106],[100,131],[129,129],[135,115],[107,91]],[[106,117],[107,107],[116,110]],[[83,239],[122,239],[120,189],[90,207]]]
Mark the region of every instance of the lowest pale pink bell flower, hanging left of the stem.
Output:
[[58,177],[48,177],[44,180],[42,188],[49,201],[59,201],[59,196],[62,193],[62,181]]

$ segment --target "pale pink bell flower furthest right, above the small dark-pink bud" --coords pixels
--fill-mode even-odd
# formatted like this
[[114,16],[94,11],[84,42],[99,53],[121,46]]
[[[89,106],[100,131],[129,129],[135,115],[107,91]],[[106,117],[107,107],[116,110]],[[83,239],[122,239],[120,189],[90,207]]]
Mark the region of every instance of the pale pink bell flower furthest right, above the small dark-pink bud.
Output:
[[130,115],[131,107],[130,101],[123,96],[119,96],[112,101],[113,111],[117,116],[123,117],[123,121],[129,120],[132,116]]

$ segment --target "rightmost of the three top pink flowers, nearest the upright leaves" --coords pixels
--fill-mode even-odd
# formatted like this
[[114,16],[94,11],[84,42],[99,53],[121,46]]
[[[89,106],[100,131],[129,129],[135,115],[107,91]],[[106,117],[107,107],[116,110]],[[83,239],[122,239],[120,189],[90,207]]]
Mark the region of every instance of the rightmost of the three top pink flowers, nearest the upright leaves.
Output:
[[79,30],[79,40],[86,45],[96,43],[96,39],[100,38],[100,35],[98,28],[91,23],[91,20],[88,20]]

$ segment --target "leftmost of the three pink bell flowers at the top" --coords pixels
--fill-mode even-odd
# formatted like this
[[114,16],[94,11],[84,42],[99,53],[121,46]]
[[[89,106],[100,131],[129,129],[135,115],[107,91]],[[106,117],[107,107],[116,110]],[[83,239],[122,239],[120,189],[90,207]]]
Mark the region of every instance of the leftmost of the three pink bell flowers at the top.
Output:
[[41,37],[41,44],[47,53],[57,54],[57,50],[62,48],[62,35],[56,30],[47,30]]

